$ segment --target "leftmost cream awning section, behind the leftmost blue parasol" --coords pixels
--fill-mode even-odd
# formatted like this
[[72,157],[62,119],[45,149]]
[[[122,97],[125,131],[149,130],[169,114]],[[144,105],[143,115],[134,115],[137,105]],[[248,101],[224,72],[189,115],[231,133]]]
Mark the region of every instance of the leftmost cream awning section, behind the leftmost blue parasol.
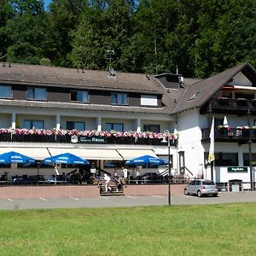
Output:
[[30,156],[36,160],[43,160],[46,157],[49,157],[50,154],[47,150],[47,148],[0,148],[0,154],[9,152],[9,151],[15,151],[20,154],[25,154],[27,156]]

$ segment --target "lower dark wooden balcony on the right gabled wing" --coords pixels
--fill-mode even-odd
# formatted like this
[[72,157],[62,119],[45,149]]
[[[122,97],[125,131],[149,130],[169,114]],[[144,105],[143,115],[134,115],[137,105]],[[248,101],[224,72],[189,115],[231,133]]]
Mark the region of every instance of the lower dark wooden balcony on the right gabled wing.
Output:
[[[211,128],[202,129],[202,143],[209,143]],[[256,143],[256,129],[214,129],[214,141],[223,143],[248,143],[249,133],[251,132],[251,139]]]

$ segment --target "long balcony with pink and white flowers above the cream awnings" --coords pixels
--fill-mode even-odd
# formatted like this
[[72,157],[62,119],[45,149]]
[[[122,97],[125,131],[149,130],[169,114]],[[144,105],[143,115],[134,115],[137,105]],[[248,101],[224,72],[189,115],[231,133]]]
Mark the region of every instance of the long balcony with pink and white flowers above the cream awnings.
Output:
[[[0,129],[0,142],[8,143],[79,143],[79,144],[126,144],[126,145],[161,145],[163,134],[153,132],[124,132],[110,133],[102,131],[83,133],[79,131],[44,131],[43,130],[23,130],[16,129],[10,132],[10,129]],[[136,134],[136,135],[135,135]],[[171,145],[176,145],[177,137],[172,139]],[[166,144],[167,145],[167,144]]]

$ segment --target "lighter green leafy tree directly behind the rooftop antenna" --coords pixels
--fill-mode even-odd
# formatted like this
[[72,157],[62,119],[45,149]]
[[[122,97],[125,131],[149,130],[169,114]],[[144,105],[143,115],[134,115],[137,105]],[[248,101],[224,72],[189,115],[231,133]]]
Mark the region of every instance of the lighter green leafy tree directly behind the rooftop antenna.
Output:
[[[94,1],[95,2],[95,1]],[[73,51],[69,55],[74,67],[106,69],[108,50],[113,50],[113,65],[125,70],[125,48],[130,44],[131,15],[134,1],[96,1],[82,15],[73,32]]]

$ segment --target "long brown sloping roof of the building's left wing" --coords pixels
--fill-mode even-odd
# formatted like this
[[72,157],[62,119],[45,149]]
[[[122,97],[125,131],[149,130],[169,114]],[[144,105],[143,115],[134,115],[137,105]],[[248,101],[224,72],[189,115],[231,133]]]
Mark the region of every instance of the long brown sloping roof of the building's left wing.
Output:
[[25,64],[0,63],[0,83],[32,84],[38,86],[68,87],[85,90],[134,91],[161,94],[154,76],[142,73],[110,73],[67,67],[46,67]]

